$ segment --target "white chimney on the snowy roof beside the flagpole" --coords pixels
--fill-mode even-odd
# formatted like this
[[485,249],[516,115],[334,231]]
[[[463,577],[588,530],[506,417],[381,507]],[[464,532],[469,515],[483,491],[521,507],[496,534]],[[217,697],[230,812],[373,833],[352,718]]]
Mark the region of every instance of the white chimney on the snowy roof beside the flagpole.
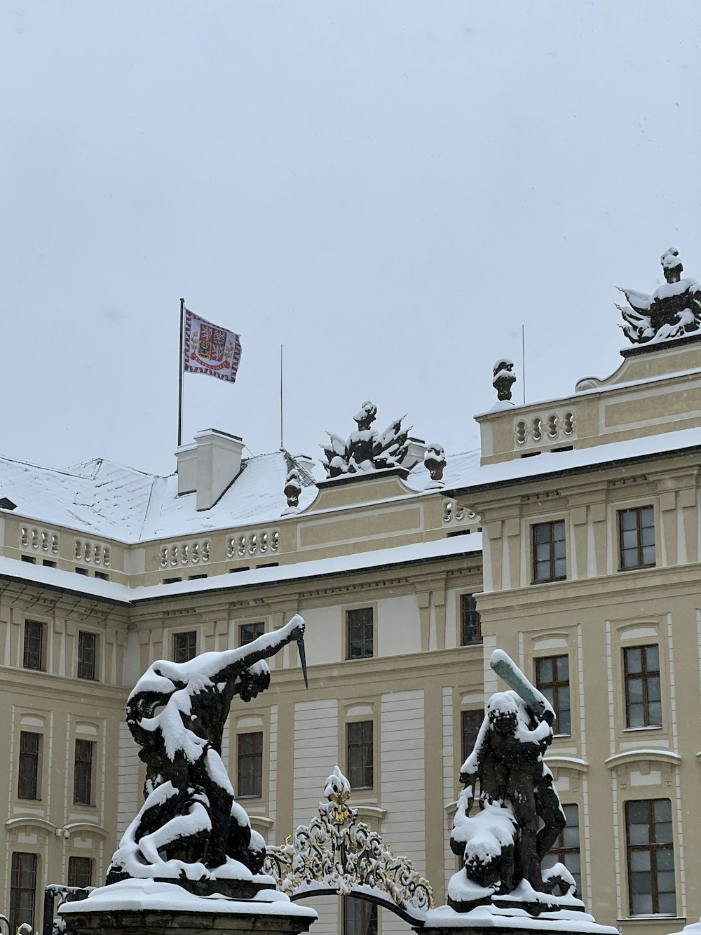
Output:
[[198,432],[183,445],[178,458],[178,496],[195,494],[197,510],[209,510],[241,470],[243,439],[216,428]]

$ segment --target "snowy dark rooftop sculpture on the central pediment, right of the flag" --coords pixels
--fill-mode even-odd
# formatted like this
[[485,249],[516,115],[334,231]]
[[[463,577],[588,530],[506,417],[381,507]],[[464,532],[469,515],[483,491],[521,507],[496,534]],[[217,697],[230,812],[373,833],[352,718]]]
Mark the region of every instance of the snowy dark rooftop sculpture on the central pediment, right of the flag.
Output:
[[322,465],[329,477],[398,468],[401,465],[407,457],[411,426],[406,431],[402,428],[402,419],[406,419],[403,415],[395,419],[384,432],[378,432],[371,427],[377,413],[375,403],[365,402],[353,416],[358,428],[350,433],[348,439],[341,439],[332,432],[326,433],[330,444],[322,445],[326,455]]

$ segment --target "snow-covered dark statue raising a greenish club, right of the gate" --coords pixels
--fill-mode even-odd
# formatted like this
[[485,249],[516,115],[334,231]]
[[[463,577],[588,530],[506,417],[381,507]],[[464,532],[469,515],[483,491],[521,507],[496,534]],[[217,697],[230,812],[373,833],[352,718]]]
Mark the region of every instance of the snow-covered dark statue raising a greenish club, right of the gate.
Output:
[[[538,894],[551,894],[560,885],[571,901],[575,891],[562,864],[545,877],[540,869],[565,827],[551,771],[543,762],[554,712],[506,653],[495,650],[491,665],[513,690],[490,698],[474,750],[460,770],[465,787],[458,798],[451,850],[463,858],[464,870],[451,878],[448,888],[449,905],[458,912],[489,903],[494,896],[549,902],[557,898]],[[478,780],[479,812],[470,817]]]

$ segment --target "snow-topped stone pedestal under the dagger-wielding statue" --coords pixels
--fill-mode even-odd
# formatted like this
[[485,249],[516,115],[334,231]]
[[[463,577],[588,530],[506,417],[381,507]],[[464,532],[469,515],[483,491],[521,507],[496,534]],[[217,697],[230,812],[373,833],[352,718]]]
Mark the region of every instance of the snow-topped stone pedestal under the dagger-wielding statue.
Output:
[[299,935],[317,918],[313,909],[275,889],[231,899],[221,893],[198,896],[156,880],[101,886],[87,899],[65,902],[59,915],[66,935]]

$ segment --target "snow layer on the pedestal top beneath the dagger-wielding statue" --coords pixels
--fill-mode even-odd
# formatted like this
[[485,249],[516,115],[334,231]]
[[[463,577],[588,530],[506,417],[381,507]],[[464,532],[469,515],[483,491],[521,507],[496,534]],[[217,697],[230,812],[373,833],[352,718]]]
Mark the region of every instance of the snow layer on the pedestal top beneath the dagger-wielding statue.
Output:
[[64,902],[59,906],[61,915],[86,912],[121,912],[162,910],[174,913],[241,913],[244,915],[293,915],[296,918],[316,919],[317,913],[308,906],[300,906],[276,889],[260,890],[252,899],[229,899],[215,893],[200,897],[182,886],[158,883],[153,880],[122,880],[109,886],[99,886],[87,899]]

